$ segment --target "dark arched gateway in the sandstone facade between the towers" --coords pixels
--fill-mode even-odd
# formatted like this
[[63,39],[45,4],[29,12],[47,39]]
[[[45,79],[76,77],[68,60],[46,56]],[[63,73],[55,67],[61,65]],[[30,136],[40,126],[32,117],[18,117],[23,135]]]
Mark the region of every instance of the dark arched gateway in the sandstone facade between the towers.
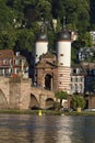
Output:
[[52,89],[52,76],[49,74],[45,76],[45,89],[48,89],[48,90]]

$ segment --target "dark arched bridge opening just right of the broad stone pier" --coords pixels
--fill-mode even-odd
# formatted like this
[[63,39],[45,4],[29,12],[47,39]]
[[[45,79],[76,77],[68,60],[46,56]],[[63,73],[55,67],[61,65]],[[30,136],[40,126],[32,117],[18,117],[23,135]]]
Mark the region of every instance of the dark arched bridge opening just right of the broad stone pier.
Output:
[[39,103],[34,95],[31,94],[29,109],[38,109]]

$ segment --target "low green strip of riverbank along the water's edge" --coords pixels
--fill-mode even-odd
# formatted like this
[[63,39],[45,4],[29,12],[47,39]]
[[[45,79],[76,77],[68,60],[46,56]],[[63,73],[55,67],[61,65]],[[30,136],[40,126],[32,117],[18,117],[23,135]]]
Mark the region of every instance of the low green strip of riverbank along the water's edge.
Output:
[[[39,110],[0,110],[0,114],[33,114],[39,116]],[[58,110],[41,110],[41,116],[95,116],[95,111],[58,111]]]

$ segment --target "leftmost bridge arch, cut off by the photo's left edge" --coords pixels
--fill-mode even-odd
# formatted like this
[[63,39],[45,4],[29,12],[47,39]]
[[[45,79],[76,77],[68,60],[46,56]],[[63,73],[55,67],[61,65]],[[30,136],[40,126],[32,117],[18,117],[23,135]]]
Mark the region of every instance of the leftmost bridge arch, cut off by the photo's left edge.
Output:
[[8,101],[7,98],[4,96],[4,94],[2,92],[2,90],[0,89],[0,109],[7,109],[8,106]]

